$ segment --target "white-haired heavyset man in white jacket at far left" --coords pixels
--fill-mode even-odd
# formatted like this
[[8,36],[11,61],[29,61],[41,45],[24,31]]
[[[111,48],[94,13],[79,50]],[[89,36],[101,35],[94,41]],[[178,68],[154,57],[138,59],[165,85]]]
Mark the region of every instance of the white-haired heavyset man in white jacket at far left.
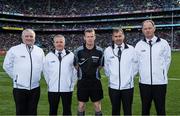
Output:
[[34,45],[33,30],[25,29],[22,41],[7,52],[3,68],[13,80],[16,114],[37,115],[44,52]]

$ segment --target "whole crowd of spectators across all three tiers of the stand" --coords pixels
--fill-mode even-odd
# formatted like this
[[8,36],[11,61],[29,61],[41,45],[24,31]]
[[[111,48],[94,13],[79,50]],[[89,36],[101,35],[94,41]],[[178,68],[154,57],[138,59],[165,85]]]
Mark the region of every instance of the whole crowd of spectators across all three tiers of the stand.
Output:
[[[74,15],[92,15],[104,13],[120,13],[143,10],[158,10],[166,8],[180,8],[179,0],[0,0],[0,12],[32,14],[32,15],[53,15],[53,16],[74,16]],[[18,24],[2,23],[0,26],[21,27],[36,29],[81,29],[84,28],[108,28],[117,26],[141,25],[141,20],[124,21],[123,23],[91,23],[91,24]],[[176,20],[174,20],[176,23]],[[155,21],[156,24],[170,24],[171,21]],[[177,21],[179,23],[179,21]],[[126,31],[127,43],[135,45],[143,38],[141,31]],[[66,38],[67,49],[73,50],[82,45],[83,34],[63,34]],[[168,40],[173,48],[180,48],[180,32],[174,31],[173,37],[170,30],[157,31],[157,35]],[[97,33],[97,45],[105,48],[111,44],[111,33]],[[53,48],[52,38],[54,34],[37,34],[36,44],[46,52]],[[173,38],[173,39],[172,39]],[[173,40],[173,42],[172,42]],[[8,50],[10,47],[21,43],[21,33],[0,33],[0,50]]]

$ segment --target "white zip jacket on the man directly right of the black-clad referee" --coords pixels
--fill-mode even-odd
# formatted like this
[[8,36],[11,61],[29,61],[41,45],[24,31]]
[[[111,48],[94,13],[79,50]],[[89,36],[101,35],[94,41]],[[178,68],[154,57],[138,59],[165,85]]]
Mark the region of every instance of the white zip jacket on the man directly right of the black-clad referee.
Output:
[[134,87],[134,76],[137,73],[137,57],[134,47],[124,44],[120,62],[118,48],[109,46],[104,51],[104,69],[109,77],[109,87],[117,90]]

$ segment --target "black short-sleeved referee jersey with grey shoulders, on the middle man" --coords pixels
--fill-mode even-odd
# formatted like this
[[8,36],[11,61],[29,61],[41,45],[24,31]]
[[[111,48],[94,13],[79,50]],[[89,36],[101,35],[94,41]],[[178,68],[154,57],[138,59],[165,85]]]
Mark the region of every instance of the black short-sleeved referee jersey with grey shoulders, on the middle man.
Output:
[[76,49],[75,56],[79,64],[79,80],[82,78],[100,78],[98,67],[102,66],[102,48],[95,45],[93,49],[89,50],[84,44]]

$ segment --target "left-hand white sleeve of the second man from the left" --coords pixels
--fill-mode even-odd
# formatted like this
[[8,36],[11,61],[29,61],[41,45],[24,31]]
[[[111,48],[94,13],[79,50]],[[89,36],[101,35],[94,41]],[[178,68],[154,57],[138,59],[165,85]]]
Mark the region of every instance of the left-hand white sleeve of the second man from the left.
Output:
[[43,61],[43,74],[47,84],[49,83],[49,68],[48,59],[45,57]]

